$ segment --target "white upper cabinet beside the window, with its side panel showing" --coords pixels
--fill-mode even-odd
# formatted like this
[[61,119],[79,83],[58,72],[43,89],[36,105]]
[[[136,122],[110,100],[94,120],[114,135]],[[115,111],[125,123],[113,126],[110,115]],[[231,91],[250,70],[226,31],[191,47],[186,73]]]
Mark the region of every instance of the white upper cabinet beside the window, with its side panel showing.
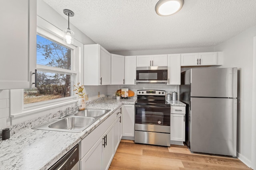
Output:
[[110,85],[111,54],[99,44],[84,45],[84,85]]

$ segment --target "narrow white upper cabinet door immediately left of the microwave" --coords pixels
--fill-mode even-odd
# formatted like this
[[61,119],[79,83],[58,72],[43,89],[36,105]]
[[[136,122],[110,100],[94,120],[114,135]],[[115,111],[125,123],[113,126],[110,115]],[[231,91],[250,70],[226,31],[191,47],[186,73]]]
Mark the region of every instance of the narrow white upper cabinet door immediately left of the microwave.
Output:
[[136,84],[136,56],[125,56],[125,84]]

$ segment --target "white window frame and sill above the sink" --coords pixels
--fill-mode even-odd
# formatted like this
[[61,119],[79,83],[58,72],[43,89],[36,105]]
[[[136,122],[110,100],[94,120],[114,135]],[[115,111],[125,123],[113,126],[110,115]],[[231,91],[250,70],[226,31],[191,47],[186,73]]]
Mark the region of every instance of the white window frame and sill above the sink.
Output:
[[[54,37],[54,40],[56,42],[60,42],[61,44],[64,44],[63,37],[62,37],[62,30],[59,28],[55,27],[48,21],[40,18],[37,16],[37,32],[38,30],[42,31],[43,33],[47,33],[48,35],[51,35],[51,37]],[[75,66],[75,71],[77,72],[76,74],[76,82],[74,84],[77,84],[77,82],[83,82],[83,67],[82,63],[84,62],[84,59],[82,57],[82,54],[84,53],[84,45],[74,39],[74,44],[73,45],[68,45],[65,44],[64,46],[74,48],[74,57],[76,64]],[[37,67],[37,66],[35,66]],[[43,68],[46,69],[46,68]],[[58,69],[57,69],[58,70]],[[72,85],[71,85],[72,86]],[[72,93],[73,91],[70,90]],[[38,117],[39,115],[45,115],[48,113],[51,113],[51,111],[58,111],[63,107],[68,107],[71,105],[76,104],[78,97],[77,96],[71,96],[71,97],[66,97],[66,98],[60,98],[60,99],[55,99],[55,100],[49,100],[50,102],[38,102],[34,106],[28,106],[24,107],[24,90],[23,89],[11,89],[9,92],[10,98],[10,122],[19,122],[19,121],[24,121],[27,119],[27,117]],[[59,109],[60,108],[60,109]]]

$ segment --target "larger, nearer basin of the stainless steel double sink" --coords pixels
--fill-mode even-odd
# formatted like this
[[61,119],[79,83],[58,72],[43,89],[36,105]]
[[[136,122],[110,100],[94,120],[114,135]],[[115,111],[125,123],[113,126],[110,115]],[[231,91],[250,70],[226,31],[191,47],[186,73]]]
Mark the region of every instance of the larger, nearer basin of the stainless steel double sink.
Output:
[[50,124],[48,127],[55,129],[79,130],[88,127],[94,120],[93,117],[66,117]]

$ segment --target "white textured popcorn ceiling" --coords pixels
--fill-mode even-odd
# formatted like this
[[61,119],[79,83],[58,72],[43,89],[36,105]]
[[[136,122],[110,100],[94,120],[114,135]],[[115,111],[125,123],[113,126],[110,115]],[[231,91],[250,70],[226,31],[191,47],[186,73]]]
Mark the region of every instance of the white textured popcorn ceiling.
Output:
[[[184,0],[161,17],[158,0],[44,0],[110,52],[212,47],[256,25],[256,0]],[[70,27],[72,29],[72,27]]]

